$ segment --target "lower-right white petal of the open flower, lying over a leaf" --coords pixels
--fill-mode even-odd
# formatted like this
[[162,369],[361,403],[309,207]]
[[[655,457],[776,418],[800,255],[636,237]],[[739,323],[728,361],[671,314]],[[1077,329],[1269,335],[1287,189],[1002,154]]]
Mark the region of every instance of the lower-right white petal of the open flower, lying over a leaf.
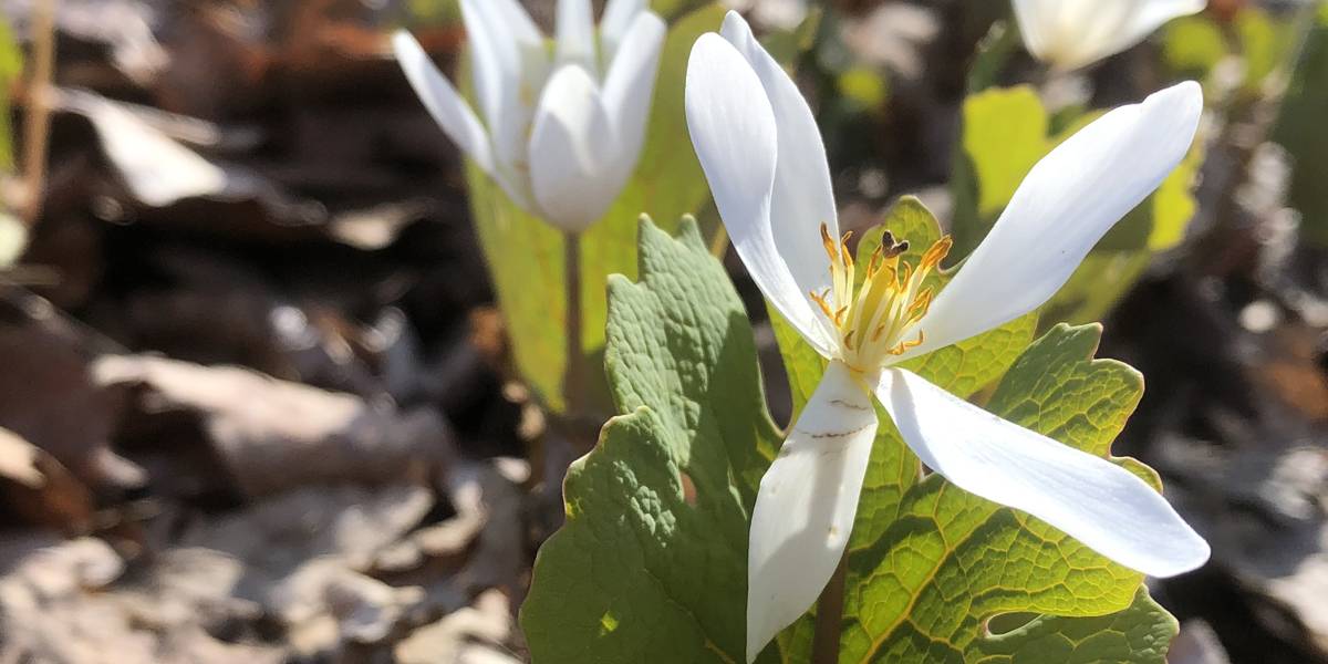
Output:
[[876,397],[904,442],[960,489],[1027,511],[1089,548],[1151,576],[1208,559],[1203,540],[1130,471],[996,417],[903,369]]

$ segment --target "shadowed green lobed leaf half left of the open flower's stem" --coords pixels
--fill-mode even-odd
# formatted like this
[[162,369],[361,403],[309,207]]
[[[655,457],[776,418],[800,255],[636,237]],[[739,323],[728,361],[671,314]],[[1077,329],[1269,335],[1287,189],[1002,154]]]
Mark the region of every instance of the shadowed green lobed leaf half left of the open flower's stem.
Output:
[[780,442],[742,301],[693,222],[610,280],[618,412],[572,465],[521,624],[534,661],[744,661],[748,517]]

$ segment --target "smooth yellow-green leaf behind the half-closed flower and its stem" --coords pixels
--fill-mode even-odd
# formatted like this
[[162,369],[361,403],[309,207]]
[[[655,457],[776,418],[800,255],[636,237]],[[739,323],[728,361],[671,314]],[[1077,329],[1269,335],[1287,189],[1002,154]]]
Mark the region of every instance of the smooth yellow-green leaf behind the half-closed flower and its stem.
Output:
[[[660,56],[645,147],[636,174],[603,219],[582,236],[582,348],[576,361],[598,365],[604,345],[604,279],[636,274],[636,224],[640,214],[665,219],[665,227],[705,199],[705,178],[687,141],[683,82],[692,44],[718,29],[724,9],[709,4],[669,29]],[[522,376],[555,412],[564,408],[567,369],[563,234],[513,205],[501,187],[467,166],[471,212],[489,259],[498,305],[511,329],[513,353]],[[587,372],[598,376],[596,371]],[[598,385],[603,392],[603,385]]]

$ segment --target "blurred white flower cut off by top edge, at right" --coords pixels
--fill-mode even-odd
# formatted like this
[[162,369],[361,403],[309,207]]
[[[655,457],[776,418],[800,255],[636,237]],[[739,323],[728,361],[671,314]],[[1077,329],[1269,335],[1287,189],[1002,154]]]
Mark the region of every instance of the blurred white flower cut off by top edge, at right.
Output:
[[1068,72],[1114,56],[1207,0],[1013,0],[1024,46]]

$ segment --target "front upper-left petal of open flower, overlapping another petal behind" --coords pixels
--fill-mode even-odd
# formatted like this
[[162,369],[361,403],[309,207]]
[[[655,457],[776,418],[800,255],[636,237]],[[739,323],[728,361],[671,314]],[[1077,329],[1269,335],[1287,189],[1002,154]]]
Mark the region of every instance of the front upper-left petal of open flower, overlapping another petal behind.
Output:
[[[685,97],[692,145],[733,248],[770,304],[818,352],[831,356],[831,337],[793,279],[770,227],[778,130],[761,80],[732,44],[706,33],[692,46]],[[819,263],[829,266],[825,254]]]

